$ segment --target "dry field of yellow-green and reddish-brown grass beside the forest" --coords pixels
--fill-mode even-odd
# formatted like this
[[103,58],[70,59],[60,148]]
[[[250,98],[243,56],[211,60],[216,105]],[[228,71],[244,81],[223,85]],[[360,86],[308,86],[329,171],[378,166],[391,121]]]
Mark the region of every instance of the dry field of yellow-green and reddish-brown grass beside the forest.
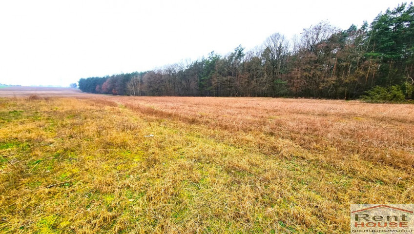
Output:
[[414,203],[413,105],[4,89],[0,233],[342,234]]

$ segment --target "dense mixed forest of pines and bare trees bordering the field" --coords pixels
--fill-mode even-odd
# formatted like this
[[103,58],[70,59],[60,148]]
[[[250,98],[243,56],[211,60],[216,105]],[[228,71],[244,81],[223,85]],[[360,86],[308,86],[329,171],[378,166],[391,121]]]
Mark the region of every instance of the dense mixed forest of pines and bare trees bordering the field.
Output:
[[130,96],[413,99],[414,6],[402,3],[371,24],[341,30],[327,21],[252,50],[162,69],[81,78],[83,92]]

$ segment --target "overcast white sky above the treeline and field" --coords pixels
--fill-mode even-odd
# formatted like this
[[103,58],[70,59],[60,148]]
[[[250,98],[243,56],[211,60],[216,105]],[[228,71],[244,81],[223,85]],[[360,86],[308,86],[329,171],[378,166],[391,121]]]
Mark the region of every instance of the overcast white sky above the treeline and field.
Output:
[[0,83],[62,85],[246,50],[321,20],[348,29],[399,0],[1,0]]

